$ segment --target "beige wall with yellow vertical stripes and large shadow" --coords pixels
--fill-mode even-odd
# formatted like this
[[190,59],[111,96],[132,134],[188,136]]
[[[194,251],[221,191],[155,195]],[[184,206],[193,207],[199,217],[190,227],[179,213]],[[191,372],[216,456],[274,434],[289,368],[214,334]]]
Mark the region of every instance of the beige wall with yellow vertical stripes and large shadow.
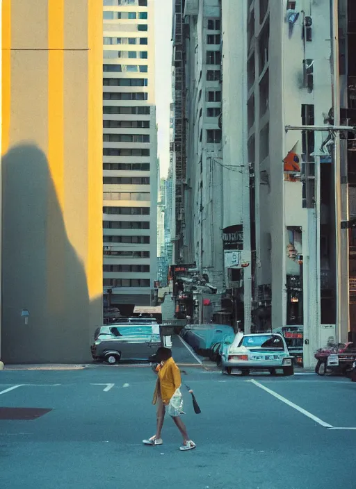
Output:
[[102,5],[2,8],[2,358],[85,362],[102,323]]

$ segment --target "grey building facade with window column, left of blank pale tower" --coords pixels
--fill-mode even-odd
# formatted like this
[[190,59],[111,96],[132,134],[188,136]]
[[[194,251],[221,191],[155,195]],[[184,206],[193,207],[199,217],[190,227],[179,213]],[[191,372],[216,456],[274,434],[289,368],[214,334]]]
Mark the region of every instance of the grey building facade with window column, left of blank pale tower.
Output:
[[216,1],[186,1],[186,212],[187,263],[223,289],[223,147],[221,19]]

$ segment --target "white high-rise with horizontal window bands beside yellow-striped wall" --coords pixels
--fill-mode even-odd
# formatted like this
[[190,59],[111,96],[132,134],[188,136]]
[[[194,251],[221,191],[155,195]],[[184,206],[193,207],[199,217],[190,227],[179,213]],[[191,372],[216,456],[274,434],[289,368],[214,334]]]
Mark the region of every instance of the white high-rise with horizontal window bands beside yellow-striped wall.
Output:
[[154,0],[104,0],[104,292],[152,303],[158,160]]

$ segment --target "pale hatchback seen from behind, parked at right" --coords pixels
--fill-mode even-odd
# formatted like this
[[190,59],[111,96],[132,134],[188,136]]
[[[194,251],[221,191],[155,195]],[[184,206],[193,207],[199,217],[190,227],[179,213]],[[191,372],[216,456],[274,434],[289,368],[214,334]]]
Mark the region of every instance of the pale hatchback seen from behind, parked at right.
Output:
[[220,365],[223,373],[232,374],[238,370],[248,375],[251,370],[268,370],[270,374],[276,374],[277,370],[282,370],[284,375],[294,374],[293,357],[282,335],[240,335],[236,340],[221,349]]

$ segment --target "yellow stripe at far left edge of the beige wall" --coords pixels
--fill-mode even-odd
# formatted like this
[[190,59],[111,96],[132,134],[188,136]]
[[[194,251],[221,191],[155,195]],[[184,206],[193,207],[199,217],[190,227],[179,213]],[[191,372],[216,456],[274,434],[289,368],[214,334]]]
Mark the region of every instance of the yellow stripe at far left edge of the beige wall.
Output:
[[1,5],[1,153],[6,154],[10,145],[10,103],[11,103],[11,0],[3,0]]

